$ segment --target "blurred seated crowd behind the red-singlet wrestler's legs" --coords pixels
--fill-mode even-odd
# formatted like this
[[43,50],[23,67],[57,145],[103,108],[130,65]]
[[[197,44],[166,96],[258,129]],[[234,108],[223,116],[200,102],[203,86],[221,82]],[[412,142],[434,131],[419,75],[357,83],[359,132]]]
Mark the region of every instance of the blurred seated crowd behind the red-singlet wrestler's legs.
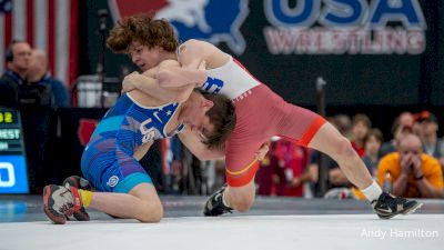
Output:
[[[393,121],[389,140],[372,128],[365,114],[337,114],[329,120],[350,139],[385,191],[410,198],[444,198],[444,139],[438,138],[433,113],[401,113]],[[321,161],[327,171],[327,192],[319,193],[320,158],[317,151],[274,138],[256,177],[259,194],[363,199],[327,156]]]

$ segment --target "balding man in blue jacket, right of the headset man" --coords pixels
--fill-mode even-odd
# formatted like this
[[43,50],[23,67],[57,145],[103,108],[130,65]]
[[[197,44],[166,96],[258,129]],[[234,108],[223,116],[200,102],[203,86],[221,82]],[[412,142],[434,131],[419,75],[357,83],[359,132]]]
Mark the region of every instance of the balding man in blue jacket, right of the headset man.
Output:
[[49,72],[48,57],[42,50],[32,50],[27,79],[32,84],[42,84],[50,89],[54,108],[69,107],[68,90],[60,80],[53,78]]

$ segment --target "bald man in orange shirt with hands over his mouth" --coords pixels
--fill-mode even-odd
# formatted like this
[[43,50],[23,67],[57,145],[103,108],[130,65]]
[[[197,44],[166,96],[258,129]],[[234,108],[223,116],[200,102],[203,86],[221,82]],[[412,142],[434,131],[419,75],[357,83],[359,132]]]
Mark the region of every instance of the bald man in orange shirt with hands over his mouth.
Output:
[[392,180],[392,193],[414,198],[444,197],[443,172],[440,162],[425,153],[420,138],[407,134],[400,140],[397,152],[381,159],[377,182],[384,184]]

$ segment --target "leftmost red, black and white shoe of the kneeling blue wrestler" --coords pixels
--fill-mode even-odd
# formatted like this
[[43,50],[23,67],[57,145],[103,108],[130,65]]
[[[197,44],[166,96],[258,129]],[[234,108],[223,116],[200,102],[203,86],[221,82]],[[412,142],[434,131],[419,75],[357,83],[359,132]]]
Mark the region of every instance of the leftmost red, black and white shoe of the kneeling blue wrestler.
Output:
[[56,224],[64,224],[67,217],[82,208],[77,188],[49,184],[43,188],[43,211]]

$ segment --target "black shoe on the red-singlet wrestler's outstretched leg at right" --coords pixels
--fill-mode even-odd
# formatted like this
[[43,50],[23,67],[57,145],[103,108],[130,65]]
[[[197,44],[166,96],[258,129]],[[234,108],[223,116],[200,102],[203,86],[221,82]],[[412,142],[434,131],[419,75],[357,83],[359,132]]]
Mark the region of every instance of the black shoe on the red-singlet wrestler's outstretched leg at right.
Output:
[[391,219],[397,214],[410,214],[421,208],[423,203],[394,197],[386,192],[381,193],[377,200],[372,201],[373,210],[381,219]]

